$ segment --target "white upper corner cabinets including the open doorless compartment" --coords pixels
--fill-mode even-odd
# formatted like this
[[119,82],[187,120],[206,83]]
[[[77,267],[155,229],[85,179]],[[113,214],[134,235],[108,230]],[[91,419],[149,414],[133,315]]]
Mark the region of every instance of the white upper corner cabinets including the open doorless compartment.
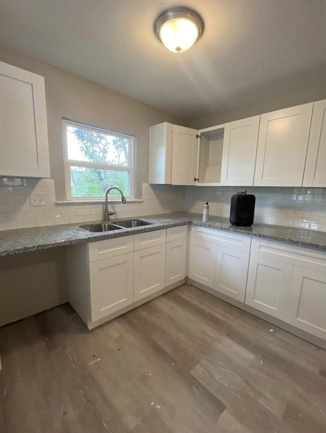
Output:
[[149,183],[252,186],[259,117],[199,131],[167,122],[152,126]]

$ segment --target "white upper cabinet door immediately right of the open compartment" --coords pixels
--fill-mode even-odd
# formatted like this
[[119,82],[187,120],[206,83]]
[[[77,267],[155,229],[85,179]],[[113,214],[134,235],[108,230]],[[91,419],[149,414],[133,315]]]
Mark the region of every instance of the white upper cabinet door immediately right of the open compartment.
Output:
[[222,185],[254,185],[259,119],[254,116],[225,125]]

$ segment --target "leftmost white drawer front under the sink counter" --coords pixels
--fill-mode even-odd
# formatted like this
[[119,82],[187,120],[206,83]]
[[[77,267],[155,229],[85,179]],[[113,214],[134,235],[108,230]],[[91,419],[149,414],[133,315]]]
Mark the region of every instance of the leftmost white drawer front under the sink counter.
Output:
[[90,262],[119,256],[133,251],[133,236],[105,239],[103,241],[91,242],[89,244]]

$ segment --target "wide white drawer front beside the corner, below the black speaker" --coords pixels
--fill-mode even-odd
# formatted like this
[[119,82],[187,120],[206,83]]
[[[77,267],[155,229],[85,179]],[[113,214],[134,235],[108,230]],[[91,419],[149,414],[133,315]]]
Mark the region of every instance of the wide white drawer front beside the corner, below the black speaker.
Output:
[[214,228],[192,227],[191,237],[211,244],[237,249],[238,251],[250,251],[250,236],[228,233]]

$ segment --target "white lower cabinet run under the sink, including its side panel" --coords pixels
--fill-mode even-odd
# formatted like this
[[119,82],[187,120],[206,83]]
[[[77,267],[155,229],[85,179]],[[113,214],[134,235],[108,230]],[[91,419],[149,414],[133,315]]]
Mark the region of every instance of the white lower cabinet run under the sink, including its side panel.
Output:
[[187,242],[188,226],[182,225],[68,246],[70,304],[92,329],[181,284]]

